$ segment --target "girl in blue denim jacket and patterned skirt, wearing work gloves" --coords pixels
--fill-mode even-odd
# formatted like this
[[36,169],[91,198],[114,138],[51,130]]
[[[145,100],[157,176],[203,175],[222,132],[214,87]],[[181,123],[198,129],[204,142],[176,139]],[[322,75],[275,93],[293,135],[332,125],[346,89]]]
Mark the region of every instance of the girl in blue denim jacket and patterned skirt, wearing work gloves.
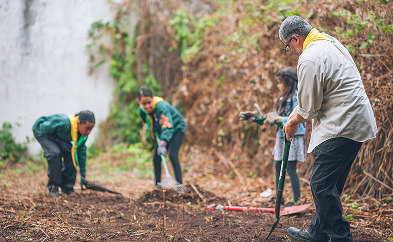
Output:
[[[288,116],[292,110],[298,105],[296,95],[298,93],[298,76],[296,70],[292,67],[287,67],[280,70],[276,76],[277,87],[280,91],[279,98],[274,104],[275,112],[267,113],[265,115],[266,122],[272,123],[282,122],[283,125],[288,121]],[[274,146],[273,155],[275,159],[276,169],[276,191],[281,169],[281,160],[284,153],[285,133],[280,126],[276,129],[276,144]],[[300,199],[300,183],[299,176],[296,172],[297,162],[306,161],[306,124],[301,123],[298,130],[292,138],[289,149],[289,157],[287,164],[287,174],[292,186],[293,201],[287,206],[292,206],[299,202]],[[273,198],[274,199],[274,198]],[[271,200],[273,200],[271,199]]]

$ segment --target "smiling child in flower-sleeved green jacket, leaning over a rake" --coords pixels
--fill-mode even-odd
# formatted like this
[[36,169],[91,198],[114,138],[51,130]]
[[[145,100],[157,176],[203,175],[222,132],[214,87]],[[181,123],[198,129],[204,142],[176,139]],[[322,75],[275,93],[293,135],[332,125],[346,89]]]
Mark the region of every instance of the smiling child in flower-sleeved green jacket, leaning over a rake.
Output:
[[156,140],[159,135],[160,143],[155,145],[153,165],[156,185],[161,181],[161,157],[169,151],[169,159],[175,171],[177,182],[182,184],[182,172],[179,163],[179,149],[186,130],[184,118],[168,102],[161,97],[153,96],[148,87],[141,87],[138,91],[139,115],[148,126],[149,135]]

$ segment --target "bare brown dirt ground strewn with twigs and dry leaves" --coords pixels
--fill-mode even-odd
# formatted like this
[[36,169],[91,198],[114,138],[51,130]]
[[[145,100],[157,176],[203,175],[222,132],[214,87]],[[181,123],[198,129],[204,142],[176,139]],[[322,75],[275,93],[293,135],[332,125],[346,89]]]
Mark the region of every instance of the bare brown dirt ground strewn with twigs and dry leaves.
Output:
[[[75,194],[50,198],[45,171],[5,171],[2,179],[7,184],[0,189],[0,241],[264,241],[276,221],[274,213],[206,209],[211,203],[274,207],[258,195],[261,191],[252,183],[258,179],[240,186],[236,179],[230,183],[215,176],[212,183],[193,177],[195,189],[187,185],[190,193],[165,192],[164,210],[163,192],[132,172],[116,181],[95,181],[122,196],[81,191],[77,181]],[[303,190],[304,202],[312,202]],[[391,241],[391,204],[384,202],[355,214],[355,241]],[[286,229],[307,228],[314,209],[282,217],[268,241],[292,241]]]

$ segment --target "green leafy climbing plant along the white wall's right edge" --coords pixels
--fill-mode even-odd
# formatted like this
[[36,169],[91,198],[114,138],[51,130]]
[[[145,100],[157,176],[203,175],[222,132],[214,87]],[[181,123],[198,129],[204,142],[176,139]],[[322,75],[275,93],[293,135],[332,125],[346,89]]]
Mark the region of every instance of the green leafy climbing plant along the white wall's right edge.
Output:
[[149,86],[154,95],[161,94],[161,86],[149,72],[147,60],[140,58],[140,46],[136,40],[140,25],[137,24],[134,31],[130,31],[129,11],[120,6],[113,23],[96,21],[89,30],[92,43],[87,47],[90,51],[91,71],[109,62],[110,74],[117,82],[109,117],[100,125],[100,129],[104,129],[101,132],[109,135],[104,138],[100,136],[101,140],[99,138],[94,144],[99,149],[119,142],[139,142],[142,125],[136,100],[137,91],[141,86]]

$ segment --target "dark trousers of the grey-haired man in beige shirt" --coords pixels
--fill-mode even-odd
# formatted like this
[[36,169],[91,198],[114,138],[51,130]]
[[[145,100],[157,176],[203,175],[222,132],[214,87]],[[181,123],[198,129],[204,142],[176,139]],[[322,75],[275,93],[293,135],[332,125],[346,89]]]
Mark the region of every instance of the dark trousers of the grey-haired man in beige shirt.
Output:
[[316,212],[309,233],[318,241],[353,242],[350,226],[342,217],[340,195],[362,143],[333,138],[314,149],[311,192]]

